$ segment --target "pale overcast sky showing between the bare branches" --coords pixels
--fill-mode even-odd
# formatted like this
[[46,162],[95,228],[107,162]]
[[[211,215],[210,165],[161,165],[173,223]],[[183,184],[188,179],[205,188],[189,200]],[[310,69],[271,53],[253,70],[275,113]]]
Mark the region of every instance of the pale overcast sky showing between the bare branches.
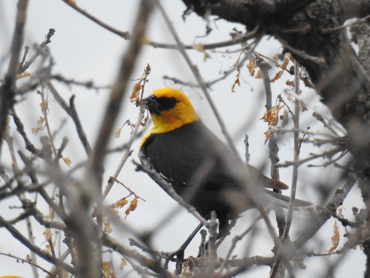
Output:
[[[93,80],[95,85],[111,85],[115,76],[117,75],[117,69],[121,60],[121,56],[128,46],[128,41],[125,41],[115,34],[108,32],[81,14],[77,13],[71,7],[67,6],[61,0],[31,0],[29,1],[28,12],[27,12],[27,25],[25,30],[25,42],[24,45],[32,46],[34,43],[41,43],[44,40],[45,34],[48,29],[54,28],[56,30],[55,35],[51,38],[51,43],[48,45],[51,55],[54,58],[55,66],[53,73],[60,73],[66,78],[73,78],[76,81],[88,81]],[[205,34],[205,21],[200,19],[195,14],[191,14],[184,22],[181,18],[182,12],[185,10],[184,4],[179,0],[166,0],[161,1],[166,9],[166,12],[171,17],[176,30],[179,33],[182,41],[185,44],[206,43],[206,42],[221,42],[223,40],[230,39],[229,33],[232,33],[232,28],[237,27],[239,30],[243,30],[243,26],[235,23],[227,23],[223,20],[212,21],[211,26],[213,31],[206,38],[196,38]],[[121,31],[132,31],[132,24],[135,19],[138,1],[123,1],[123,0],[110,0],[110,1],[96,1],[96,0],[79,0],[77,1],[78,6],[87,10],[89,13],[98,17],[105,23],[121,30]],[[16,12],[16,1],[0,0],[0,59],[7,56],[9,53],[9,47],[11,42],[11,36],[14,29],[14,18]],[[164,21],[161,19],[158,11],[155,10],[152,14],[151,20],[147,30],[147,37],[156,42],[168,42],[174,43]],[[238,49],[238,47],[230,47],[229,49]],[[275,53],[281,52],[281,46],[275,40],[264,38],[258,45],[257,51],[272,57]],[[235,63],[238,54],[224,54],[224,53],[211,53],[210,59],[203,61],[203,53],[196,52],[195,50],[189,51],[193,63],[195,63],[203,78],[208,80],[216,79],[220,76],[220,73],[228,70],[229,67]],[[31,47],[30,55],[33,54]],[[0,60],[0,78],[3,77],[7,69],[8,60]],[[168,75],[176,77],[185,82],[195,83],[194,76],[186,66],[185,60],[175,50],[164,50],[155,49],[151,46],[144,46],[141,55],[136,63],[132,79],[136,79],[142,75],[144,67],[150,64],[152,73],[149,75],[149,83],[145,86],[146,94],[149,94],[151,90],[166,87],[175,86],[178,89],[183,90],[186,95],[189,96],[195,109],[198,111],[203,122],[206,123],[222,140],[224,140],[218,123],[213,116],[211,109],[202,95],[200,89],[191,89],[189,87],[181,87],[179,85],[173,85],[171,82],[164,81],[162,77]],[[273,66],[273,65],[272,65]],[[34,73],[36,69],[36,63],[32,65],[28,72]],[[273,77],[277,72],[275,66],[271,70],[270,76]],[[269,174],[269,158],[268,158],[268,146],[263,145],[265,135],[263,132],[267,130],[267,123],[259,120],[263,116],[265,109],[265,96],[262,86],[261,79],[255,79],[248,73],[246,67],[241,69],[241,86],[236,87],[236,92],[231,92],[231,86],[235,80],[235,74],[226,78],[225,80],[217,83],[212,87],[211,95],[216,103],[216,106],[221,113],[224,122],[233,140],[240,152],[240,156],[243,158],[245,149],[243,144],[244,134],[249,135],[250,143],[250,163],[255,166],[262,166],[266,163],[266,167],[263,169],[266,175]],[[283,90],[287,89],[285,81],[293,80],[292,76],[288,76],[284,73],[283,77],[272,84],[273,96],[283,93]],[[21,82],[21,81],[20,81]],[[109,96],[108,90],[87,90],[81,86],[67,86],[54,82],[55,88],[58,90],[60,95],[65,100],[71,97],[72,94],[76,95],[75,105],[80,115],[81,122],[85,128],[85,132],[90,140],[91,146],[94,146],[95,138],[99,130],[103,112],[105,110],[105,103]],[[132,85],[134,82],[132,82]],[[303,87],[303,84],[301,84]],[[128,87],[126,95],[129,95],[131,87]],[[309,111],[301,113],[301,128],[304,129],[306,126],[311,126],[311,130],[317,130],[321,132],[328,132],[322,128],[322,124],[315,122],[312,119],[312,112],[318,111],[331,118],[327,109],[319,102],[319,97],[315,95],[312,90],[303,90],[303,100],[309,106]],[[286,99],[286,95],[283,94]],[[25,124],[25,130],[28,132],[30,139],[35,142],[37,146],[40,146],[40,136],[46,135],[46,130],[41,131],[36,135],[31,134],[31,128],[37,126],[38,116],[41,116],[41,110],[39,103],[41,102],[40,96],[36,92],[28,93],[26,99],[16,105],[16,111]],[[291,108],[293,108],[291,103]],[[67,118],[64,110],[60,109],[53,100],[51,94],[49,95],[49,119],[51,122],[52,129],[57,129],[60,126],[61,119]],[[136,122],[138,115],[138,109],[125,98],[122,105],[118,122],[115,126],[120,128],[125,120],[130,119],[131,122]],[[248,128],[244,127],[244,124],[248,122]],[[290,120],[292,125],[292,120]],[[14,123],[11,122],[11,134],[16,134],[16,128]],[[243,126],[243,129],[240,128]],[[121,138],[114,138],[114,134],[110,136],[110,147],[120,146],[126,142],[129,138],[129,132],[131,129],[128,126],[124,126],[121,132]],[[55,138],[56,145],[60,145],[63,136],[68,136],[70,142],[64,151],[65,156],[69,156],[72,160],[72,166],[79,162],[85,161],[86,155],[82,149],[81,143],[78,141],[75,129],[71,120],[68,120],[67,125],[61,130],[60,135]],[[147,202],[139,200],[138,208],[132,212],[131,215],[124,219],[124,209],[121,209],[121,219],[118,223],[113,224],[112,236],[121,240],[123,244],[129,245],[127,238],[134,237],[135,234],[127,231],[146,231],[151,229],[158,221],[164,218],[172,209],[178,207],[178,205],[167,196],[154,182],[151,181],[144,173],[135,173],[134,166],[131,163],[132,159],[138,161],[137,149],[140,138],[138,138],[132,149],[134,153],[124,166],[120,176],[120,181],[124,182],[125,185],[129,186],[134,190],[140,197],[145,199]],[[23,149],[24,143],[19,137],[14,138],[14,144],[17,149]],[[4,146],[4,144],[3,144]],[[279,142],[279,157],[281,161],[293,159],[293,135],[288,133],[282,135]],[[325,149],[325,148],[322,148]],[[304,144],[302,147],[301,157],[305,158],[309,153],[318,153],[318,148],[313,148],[312,144]],[[27,151],[26,151],[27,153]],[[1,151],[3,157],[1,163],[9,167],[9,152],[6,148]],[[118,163],[121,160],[122,153],[115,153],[114,155],[108,155],[105,162],[105,175],[104,179],[107,180],[117,168]],[[20,162],[20,160],[19,160]],[[320,164],[322,161],[314,161],[312,164]],[[40,165],[42,167],[42,165]],[[65,171],[68,171],[65,166]],[[318,183],[326,185],[330,189],[329,196],[332,196],[336,188],[342,187],[344,181],[339,178],[338,171],[332,167],[328,168],[308,168],[307,165],[302,166],[299,169],[299,182],[297,197],[306,199],[307,201],[313,202],[315,205],[322,206],[322,200],[319,199],[319,195],[315,193],[315,188]],[[280,170],[280,179],[286,183],[290,183],[292,176],[292,168],[283,168]],[[76,178],[81,178],[83,175],[77,173]],[[48,188],[52,190],[51,188]],[[286,192],[285,195],[289,195],[290,192]],[[114,189],[110,192],[107,198],[107,203],[112,203],[115,200],[128,195],[127,191],[123,188],[115,185]],[[40,205],[42,202],[41,198],[38,198]],[[0,202],[1,215],[6,219],[16,217],[20,210],[9,209],[9,205],[19,205],[17,199],[7,199]],[[352,219],[351,207],[362,206],[359,190],[356,188],[350,193],[349,197],[344,203],[346,210],[343,212],[344,216]],[[47,206],[43,206],[44,213],[47,214]],[[233,236],[240,234],[243,229],[246,229],[255,217],[255,211],[248,211],[243,214],[243,217],[239,219],[237,226],[232,231],[232,236],[226,240],[219,249],[219,257],[225,257],[228,248],[231,244]],[[270,213],[272,221],[274,220],[273,213]],[[291,238],[295,239],[299,234],[299,229],[304,227],[307,212],[295,212],[294,224],[292,227]],[[333,235],[333,220],[326,223],[323,229],[318,233],[312,241],[306,245],[308,251],[312,248],[314,252],[324,253],[331,245],[331,236]],[[36,235],[36,244],[45,246],[44,238],[42,236],[43,229],[39,228],[34,222],[34,235]],[[181,209],[180,212],[162,229],[160,229],[154,241],[154,247],[158,248],[159,251],[174,251],[177,249],[190,232],[197,225],[197,221],[194,216],[188,214],[185,209]],[[22,231],[25,231],[25,223],[20,222],[16,227]],[[127,228],[127,229],[126,229]],[[245,245],[246,240],[239,243],[233,254],[238,254],[238,258],[243,257],[245,254],[248,256],[254,255],[265,255],[271,256],[272,252],[270,249],[273,246],[272,239],[269,237],[266,226],[260,222],[258,225],[258,238],[254,241],[253,246],[246,251]],[[344,234],[344,228],[340,226],[341,235]],[[63,234],[63,233],[62,233]],[[63,235],[62,235],[63,239]],[[247,237],[248,239],[248,237]],[[346,238],[341,238],[339,246],[343,246]],[[198,252],[199,237],[194,239],[192,244],[188,247],[185,252],[185,257],[189,255],[196,255]],[[61,243],[62,244],[62,243]],[[63,245],[63,244],[62,244]],[[64,246],[63,246],[64,248]],[[134,247],[133,247],[134,248]],[[13,239],[5,229],[0,229],[0,252],[11,253],[21,258],[26,258],[28,254],[27,249],[22,246],[18,241]],[[114,254],[116,261],[119,257]],[[306,258],[304,263],[307,265],[305,271],[297,271],[297,277],[320,277],[324,274],[325,267],[331,261],[335,261],[336,255],[331,257],[317,257],[317,258]],[[67,259],[68,261],[68,259]],[[42,259],[38,259],[38,263],[49,269],[50,265],[44,262]],[[365,266],[365,256],[363,252],[357,248],[357,250],[351,250],[344,261],[340,262],[340,267],[335,272],[335,277],[360,277],[363,275]],[[174,264],[170,264],[171,270],[174,269]],[[118,277],[122,277],[131,268],[126,267],[123,272],[120,271],[119,267],[116,267]],[[251,271],[247,272],[244,276],[248,277],[268,277],[269,267],[254,267]],[[27,264],[17,264],[15,259],[11,259],[1,255],[0,257],[0,275],[19,275],[24,277],[31,277],[31,268]],[[129,277],[135,277],[135,272],[129,274]],[[40,277],[44,275],[40,273]],[[242,277],[242,276],[241,276]]]

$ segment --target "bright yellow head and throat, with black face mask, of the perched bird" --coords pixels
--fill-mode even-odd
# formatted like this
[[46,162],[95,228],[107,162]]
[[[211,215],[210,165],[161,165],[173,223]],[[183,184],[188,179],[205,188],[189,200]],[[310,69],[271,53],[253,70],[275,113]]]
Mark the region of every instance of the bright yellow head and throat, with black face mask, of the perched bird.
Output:
[[141,145],[152,133],[163,133],[199,120],[194,107],[184,93],[176,89],[154,90],[145,99],[154,126],[144,135]]

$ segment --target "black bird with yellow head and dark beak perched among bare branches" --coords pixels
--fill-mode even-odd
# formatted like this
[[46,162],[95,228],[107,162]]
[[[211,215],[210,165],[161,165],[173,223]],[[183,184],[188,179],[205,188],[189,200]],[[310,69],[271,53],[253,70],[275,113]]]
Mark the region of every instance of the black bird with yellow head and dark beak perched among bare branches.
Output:
[[[230,220],[256,208],[257,202],[288,208],[288,196],[265,188],[288,189],[289,186],[242,163],[203,124],[184,93],[161,88],[143,101],[153,127],[143,136],[139,152],[203,218],[210,219],[211,212],[216,213],[219,237],[228,231]],[[295,205],[312,203],[296,199]]]

